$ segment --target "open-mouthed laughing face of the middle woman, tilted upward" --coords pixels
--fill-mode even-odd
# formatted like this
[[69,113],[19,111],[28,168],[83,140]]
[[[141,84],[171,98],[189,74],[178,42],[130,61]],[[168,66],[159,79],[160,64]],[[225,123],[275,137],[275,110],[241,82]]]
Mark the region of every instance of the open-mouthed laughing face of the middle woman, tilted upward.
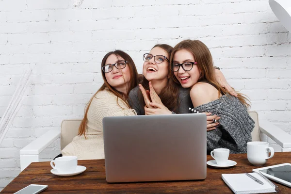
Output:
[[[154,56],[163,55],[169,59],[168,53],[160,47],[151,49],[149,53]],[[169,62],[164,60],[158,64],[152,57],[149,61],[144,62],[143,74],[148,81],[166,81],[169,75]]]

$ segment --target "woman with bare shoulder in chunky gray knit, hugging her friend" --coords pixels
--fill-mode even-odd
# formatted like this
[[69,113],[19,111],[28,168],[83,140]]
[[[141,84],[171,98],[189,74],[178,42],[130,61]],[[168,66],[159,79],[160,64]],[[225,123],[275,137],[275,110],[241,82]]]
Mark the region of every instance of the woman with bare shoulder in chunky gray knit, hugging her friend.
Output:
[[[230,153],[246,153],[246,143],[252,141],[255,122],[247,112],[246,97],[237,97],[216,81],[210,50],[199,40],[178,43],[171,54],[171,80],[183,88],[191,88],[193,112],[219,115],[220,125],[207,132],[207,151],[228,148]],[[192,108],[194,107],[194,108]]]

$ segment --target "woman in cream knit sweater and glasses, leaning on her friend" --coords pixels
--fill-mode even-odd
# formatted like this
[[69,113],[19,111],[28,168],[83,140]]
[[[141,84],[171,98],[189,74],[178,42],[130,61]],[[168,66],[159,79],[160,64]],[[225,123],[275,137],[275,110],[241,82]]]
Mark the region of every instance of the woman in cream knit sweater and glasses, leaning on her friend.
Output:
[[104,159],[103,125],[105,116],[136,115],[129,108],[129,91],[138,83],[138,73],[130,56],[115,50],[101,62],[104,84],[90,99],[79,134],[62,150],[63,156],[74,155],[78,160]]

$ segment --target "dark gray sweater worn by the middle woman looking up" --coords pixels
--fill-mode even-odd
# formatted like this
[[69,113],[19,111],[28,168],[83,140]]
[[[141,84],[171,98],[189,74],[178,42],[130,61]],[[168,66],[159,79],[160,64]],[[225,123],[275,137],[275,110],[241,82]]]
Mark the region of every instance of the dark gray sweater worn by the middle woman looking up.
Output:
[[[129,92],[129,105],[133,108],[137,115],[145,115],[145,105],[140,103],[138,99],[139,86],[136,86]],[[177,113],[192,113],[189,107],[193,106],[190,98],[189,88],[179,88],[178,97],[178,112]],[[173,110],[170,110],[173,111]]]

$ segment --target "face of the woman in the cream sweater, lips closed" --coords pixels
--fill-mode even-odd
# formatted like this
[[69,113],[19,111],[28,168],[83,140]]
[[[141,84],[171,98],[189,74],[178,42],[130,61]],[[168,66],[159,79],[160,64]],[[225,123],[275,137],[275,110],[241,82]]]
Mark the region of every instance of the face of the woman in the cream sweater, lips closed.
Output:
[[[112,65],[119,61],[125,61],[122,57],[116,57],[115,54],[109,55],[106,59],[105,65]],[[119,92],[123,92],[126,94],[127,88],[129,88],[130,81],[130,70],[129,65],[127,64],[123,69],[117,69],[113,66],[113,70],[111,72],[105,73],[105,78],[109,85],[115,88]]]

